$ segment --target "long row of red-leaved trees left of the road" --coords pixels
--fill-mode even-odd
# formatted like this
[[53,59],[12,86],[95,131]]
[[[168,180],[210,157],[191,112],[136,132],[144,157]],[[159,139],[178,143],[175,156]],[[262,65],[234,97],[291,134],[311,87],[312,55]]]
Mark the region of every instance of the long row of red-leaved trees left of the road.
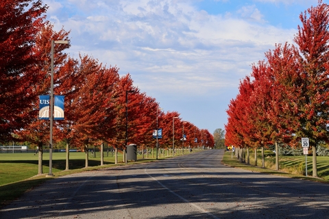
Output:
[[[49,121],[38,119],[38,95],[50,93],[51,40],[69,40],[69,32],[54,31],[45,21],[45,10],[41,1],[0,3],[0,141],[28,141],[38,146],[39,154],[49,145]],[[183,124],[184,146],[214,145],[208,130],[173,119],[178,112],[159,110],[156,99],[134,86],[129,74],[120,76],[117,66],[100,64],[88,55],[69,57],[64,53],[69,46],[55,44],[53,54],[54,94],[65,96],[65,119],[53,125],[56,142],[86,151],[90,144],[103,142],[125,149],[127,118],[127,144],[154,147],[158,117],[160,147],[173,145],[173,123],[176,146],[182,145]]]

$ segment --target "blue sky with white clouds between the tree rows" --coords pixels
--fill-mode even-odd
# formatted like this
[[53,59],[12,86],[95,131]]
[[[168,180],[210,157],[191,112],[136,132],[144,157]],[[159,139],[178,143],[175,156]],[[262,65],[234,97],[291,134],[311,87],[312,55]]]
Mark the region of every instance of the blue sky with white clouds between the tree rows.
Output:
[[[239,81],[276,43],[293,43],[317,0],[44,0],[55,29],[130,73],[141,92],[199,129],[224,129]],[[328,3],[328,1],[324,1]]]

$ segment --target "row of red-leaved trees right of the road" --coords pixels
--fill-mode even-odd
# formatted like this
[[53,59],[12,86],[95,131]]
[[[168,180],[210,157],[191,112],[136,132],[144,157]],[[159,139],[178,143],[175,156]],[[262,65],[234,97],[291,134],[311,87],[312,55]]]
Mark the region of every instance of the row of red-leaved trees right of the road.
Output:
[[241,81],[227,110],[226,145],[301,146],[309,138],[317,177],[317,146],[329,141],[329,6],[319,1],[300,21],[295,44],[277,44]]

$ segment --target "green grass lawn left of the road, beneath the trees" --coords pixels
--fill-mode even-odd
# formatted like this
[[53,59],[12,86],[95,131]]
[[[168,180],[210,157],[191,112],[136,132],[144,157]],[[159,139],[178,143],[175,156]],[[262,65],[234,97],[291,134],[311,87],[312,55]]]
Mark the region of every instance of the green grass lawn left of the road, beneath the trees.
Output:
[[[137,155],[136,162],[128,162],[128,165],[141,162],[154,162],[156,160],[156,150],[152,155]],[[186,153],[186,152],[185,152]],[[108,168],[115,165],[126,165],[123,163],[122,153],[118,153],[118,164],[115,163],[115,157],[112,153],[104,152],[104,165],[101,164],[100,153],[97,152],[94,157],[89,153],[88,168],[85,167],[86,154],[83,152],[70,153],[70,170],[65,170],[66,153],[52,153],[52,173],[54,177],[70,175],[75,172],[84,172],[100,168]],[[180,155],[180,154],[176,154]],[[165,159],[164,155],[158,155],[158,159]],[[43,175],[38,175],[38,155],[34,153],[0,153],[0,208],[10,203],[15,198],[21,196],[24,192],[31,190],[40,183],[51,179],[46,177],[49,172],[49,153],[42,156]]]

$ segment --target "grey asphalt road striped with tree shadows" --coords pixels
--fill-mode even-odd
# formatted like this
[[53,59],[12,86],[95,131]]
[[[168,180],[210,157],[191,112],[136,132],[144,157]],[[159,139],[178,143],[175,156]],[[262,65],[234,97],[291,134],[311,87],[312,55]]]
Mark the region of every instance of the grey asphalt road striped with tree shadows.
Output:
[[230,168],[208,150],[47,181],[0,218],[329,218],[329,185]]

